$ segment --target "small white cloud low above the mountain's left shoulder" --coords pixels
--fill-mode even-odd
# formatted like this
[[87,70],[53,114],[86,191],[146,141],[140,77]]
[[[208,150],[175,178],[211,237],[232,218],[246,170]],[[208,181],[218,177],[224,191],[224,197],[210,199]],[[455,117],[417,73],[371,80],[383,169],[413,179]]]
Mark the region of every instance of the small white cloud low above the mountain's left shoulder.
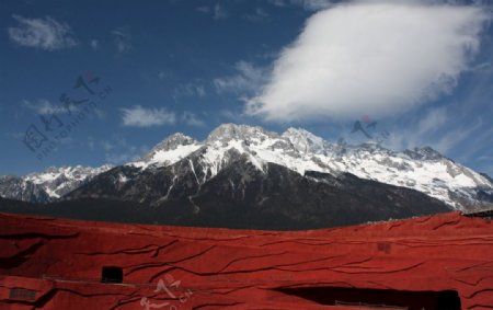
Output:
[[146,108],[140,105],[134,107],[124,107],[122,112],[122,122],[124,126],[131,127],[151,127],[161,125],[173,125],[176,120],[174,112],[168,112],[164,107]]

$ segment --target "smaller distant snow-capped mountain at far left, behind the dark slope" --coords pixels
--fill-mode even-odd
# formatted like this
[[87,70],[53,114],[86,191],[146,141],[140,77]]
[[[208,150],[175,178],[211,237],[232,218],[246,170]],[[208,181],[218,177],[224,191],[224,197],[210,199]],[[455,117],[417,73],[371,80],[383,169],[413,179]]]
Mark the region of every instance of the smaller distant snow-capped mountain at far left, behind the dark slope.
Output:
[[25,176],[0,176],[0,196],[31,203],[49,203],[111,168],[112,165],[108,164],[99,168],[51,167],[44,172],[31,173]]

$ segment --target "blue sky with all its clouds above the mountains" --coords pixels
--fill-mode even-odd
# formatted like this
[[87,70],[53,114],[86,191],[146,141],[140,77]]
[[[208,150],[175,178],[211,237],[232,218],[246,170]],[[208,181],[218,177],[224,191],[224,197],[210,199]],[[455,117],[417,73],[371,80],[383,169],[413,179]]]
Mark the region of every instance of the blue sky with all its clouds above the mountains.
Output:
[[356,143],[360,119],[492,175],[492,50],[481,1],[0,0],[0,174],[222,123]]

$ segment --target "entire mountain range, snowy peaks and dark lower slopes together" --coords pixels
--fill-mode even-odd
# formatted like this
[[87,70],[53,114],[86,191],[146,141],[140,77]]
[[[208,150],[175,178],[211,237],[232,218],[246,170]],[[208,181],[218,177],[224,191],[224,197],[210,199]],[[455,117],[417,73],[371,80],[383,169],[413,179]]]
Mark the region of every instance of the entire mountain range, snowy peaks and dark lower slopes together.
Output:
[[[11,177],[11,188],[34,190],[9,193],[30,202],[58,199],[44,208],[53,215],[64,209],[87,218],[79,214],[80,202],[90,200],[106,220],[118,216],[119,206],[133,215],[128,220],[263,229],[353,225],[493,206],[488,176],[432,148],[395,152],[376,143],[332,143],[296,128],[278,135],[225,124],[204,141],[174,134],[139,160],[79,174],[85,177],[60,172]],[[72,180],[70,186],[64,186],[64,177]],[[31,194],[34,191],[39,193]]]

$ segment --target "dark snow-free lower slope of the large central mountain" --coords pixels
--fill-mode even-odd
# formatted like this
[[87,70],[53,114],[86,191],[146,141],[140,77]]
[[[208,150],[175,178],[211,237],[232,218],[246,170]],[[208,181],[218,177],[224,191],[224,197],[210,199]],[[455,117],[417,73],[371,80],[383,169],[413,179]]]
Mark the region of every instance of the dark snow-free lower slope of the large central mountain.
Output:
[[260,171],[236,150],[213,176],[198,167],[203,154],[198,151],[152,170],[115,168],[41,210],[84,219],[267,230],[348,226],[449,210],[420,192],[352,174],[301,175],[275,163]]

